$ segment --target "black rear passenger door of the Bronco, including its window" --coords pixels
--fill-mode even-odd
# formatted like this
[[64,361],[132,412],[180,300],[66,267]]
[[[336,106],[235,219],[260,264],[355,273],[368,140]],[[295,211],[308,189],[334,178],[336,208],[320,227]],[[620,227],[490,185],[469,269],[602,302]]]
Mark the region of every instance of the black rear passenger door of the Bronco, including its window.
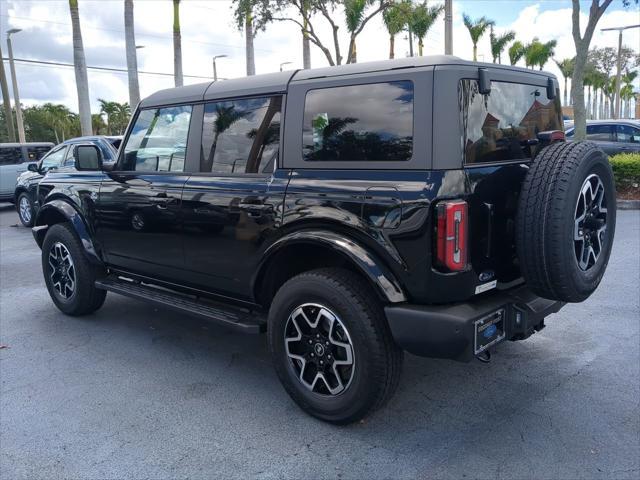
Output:
[[284,97],[203,106],[200,159],[182,197],[189,281],[249,298],[265,239],[279,221],[288,173],[276,167]]

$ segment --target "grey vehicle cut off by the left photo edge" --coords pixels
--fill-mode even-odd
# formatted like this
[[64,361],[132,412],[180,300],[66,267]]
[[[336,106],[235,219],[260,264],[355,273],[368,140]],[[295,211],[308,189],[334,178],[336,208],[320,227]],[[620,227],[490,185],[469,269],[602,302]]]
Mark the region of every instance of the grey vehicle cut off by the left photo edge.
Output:
[[0,143],[0,202],[13,202],[16,179],[53,148],[51,142]]

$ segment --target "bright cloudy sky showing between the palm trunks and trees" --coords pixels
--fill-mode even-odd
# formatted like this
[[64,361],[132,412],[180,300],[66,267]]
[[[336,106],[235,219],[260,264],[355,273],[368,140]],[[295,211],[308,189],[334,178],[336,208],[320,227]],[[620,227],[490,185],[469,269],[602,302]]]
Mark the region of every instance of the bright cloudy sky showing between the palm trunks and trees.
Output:
[[[431,1],[430,4],[442,3]],[[145,45],[138,50],[139,69],[171,73],[173,71],[172,3],[167,0],[135,1],[136,42]],[[462,11],[454,2],[454,54],[465,59],[472,55],[469,34],[462,24]],[[488,3],[490,6],[496,3]],[[545,10],[541,3],[511,2],[503,8],[519,8],[516,20],[509,25],[497,25],[496,31],[514,30],[517,38],[528,42],[534,37],[542,41],[556,39],[557,58],[574,55],[571,36],[571,4],[558,2],[559,8]],[[513,6],[512,6],[513,5]],[[487,16],[491,17],[491,11]],[[0,2],[0,32],[4,39],[7,28],[22,28],[14,36],[16,57],[71,63],[73,61],[71,27],[67,0],[8,0]],[[340,12],[338,17],[342,17]],[[125,67],[124,25],[122,0],[80,0],[82,34],[89,65]],[[442,18],[442,17],[441,17]],[[582,13],[582,25],[586,24]],[[600,28],[640,23],[637,9],[610,10],[600,20],[592,46],[617,48],[615,32],[600,32]],[[183,70],[185,74],[212,76],[212,57],[226,54],[218,61],[221,77],[239,77],[245,74],[244,36],[236,29],[230,1],[189,0],[181,5]],[[322,18],[316,28],[328,43],[331,31]],[[584,28],[584,27],[583,27]],[[340,28],[342,54],[346,56],[347,35]],[[299,28],[291,22],[275,22],[259,32],[255,40],[256,70],[258,73],[277,71],[281,62],[290,61],[286,68],[300,68],[302,45]],[[640,49],[640,29],[628,30],[624,44]],[[379,60],[388,57],[389,38],[380,16],[373,19],[358,37],[358,60]],[[312,45],[312,64],[327,64],[322,52]],[[417,42],[416,42],[417,49]],[[408,54],[406,34],[396,37],[396,57]],[[425,54],[444,52],[444,22],[438,21],[425,39]],[[491,61],[489,37],[478,45],[479,59]],[[506,61],[506,54],[503,55]],[[559,75],[553,62],[546,69]],[[53,101],[77,109],[75,78],[72,68],[48,68],[17,65],[23,103],[29,105]],[[97,111],[97,98],[124,102],[128,99],[126,74],[89,71],[92,107]],[[185,83],[206,79],[185,78]],[[170,76],[140,75],[142,96],[173,86]]]

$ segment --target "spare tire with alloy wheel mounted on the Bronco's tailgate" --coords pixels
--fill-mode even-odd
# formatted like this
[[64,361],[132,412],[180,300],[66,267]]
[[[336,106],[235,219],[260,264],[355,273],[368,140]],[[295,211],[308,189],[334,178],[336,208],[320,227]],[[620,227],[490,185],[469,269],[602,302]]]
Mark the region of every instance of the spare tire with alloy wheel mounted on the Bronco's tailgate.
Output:
[[609,159],[589,142],[554,143],[533,161],[516,222],[520,269],[538,295],[581,302],[609,262],[616,195]]

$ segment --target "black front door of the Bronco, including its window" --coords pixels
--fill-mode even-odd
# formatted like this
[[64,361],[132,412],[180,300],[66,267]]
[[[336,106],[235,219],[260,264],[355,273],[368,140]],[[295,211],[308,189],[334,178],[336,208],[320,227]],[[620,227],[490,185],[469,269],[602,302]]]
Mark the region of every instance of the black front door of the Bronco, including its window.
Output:
[[184,267],[180,208],[191,109],[139,112],[97,203],[97,235],[109,264],[168,281]]

